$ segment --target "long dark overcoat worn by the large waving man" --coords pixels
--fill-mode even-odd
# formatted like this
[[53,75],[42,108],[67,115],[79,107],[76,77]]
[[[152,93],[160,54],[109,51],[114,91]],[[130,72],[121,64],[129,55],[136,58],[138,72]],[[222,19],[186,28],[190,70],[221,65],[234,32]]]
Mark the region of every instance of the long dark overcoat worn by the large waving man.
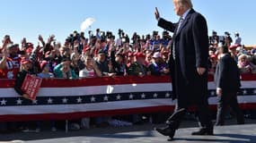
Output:
[[207,68],[208,36],[207,21],[193,9],[182,21],[179,32],[178,24],[160,19],[158,26],[174,32],[172,48],[175,48],[175,60],[170,58],[172,93],[180,100],[180,105],[197,102],[196,98],[207,96],[207,71],[199,76],[197,67]]

